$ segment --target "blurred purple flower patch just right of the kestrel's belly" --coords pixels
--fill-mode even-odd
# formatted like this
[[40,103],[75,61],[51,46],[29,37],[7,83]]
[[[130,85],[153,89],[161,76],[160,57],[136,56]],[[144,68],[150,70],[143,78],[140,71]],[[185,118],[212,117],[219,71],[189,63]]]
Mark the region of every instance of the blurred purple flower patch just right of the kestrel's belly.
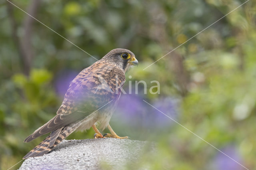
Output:
[[[171,117],[177,119],[177,101],[172,98],[160,99],[148,103]],[[120,121],[136,127],[163,128],[172,125],[174,122],[148,105],[139,95],[121,95],[116,114]]]

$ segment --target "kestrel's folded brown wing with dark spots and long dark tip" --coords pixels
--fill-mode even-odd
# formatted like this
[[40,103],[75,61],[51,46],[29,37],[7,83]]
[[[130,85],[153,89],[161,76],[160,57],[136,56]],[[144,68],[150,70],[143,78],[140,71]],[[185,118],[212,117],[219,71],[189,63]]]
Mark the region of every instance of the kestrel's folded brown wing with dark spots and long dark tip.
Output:
[[118,100],[124,81],[124,72],[117,67],[104,67],[94,63],[84,69],[71,82],[57,115],[24,142],[81,121],[110,101]]

